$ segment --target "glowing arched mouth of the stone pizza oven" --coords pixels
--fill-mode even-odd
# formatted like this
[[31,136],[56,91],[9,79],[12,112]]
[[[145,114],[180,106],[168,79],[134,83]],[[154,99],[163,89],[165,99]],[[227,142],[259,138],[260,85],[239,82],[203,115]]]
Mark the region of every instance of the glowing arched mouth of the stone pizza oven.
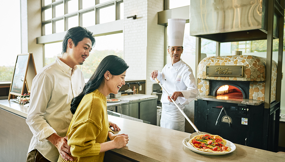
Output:
[[[228,86],[228,90],[222,90],[221,92],[217,92],[219,88],[222,86]],[[227,98],[237,98],[237,99],[245,99],[245,92],[243,89],[235,84],[219,84],[217,85],[213,92],[213,96],[217,96],[218,98],[221,99],[227,99]]]

